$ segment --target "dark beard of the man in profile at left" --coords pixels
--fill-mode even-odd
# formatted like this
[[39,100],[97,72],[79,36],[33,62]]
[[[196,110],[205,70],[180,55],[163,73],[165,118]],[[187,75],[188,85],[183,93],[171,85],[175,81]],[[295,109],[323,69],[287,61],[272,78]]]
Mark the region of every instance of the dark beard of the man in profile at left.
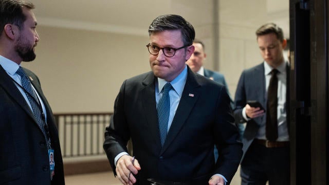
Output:
[[15,46],[15,50],[17,54],[21,57],[22,61],[24,62],[30,62],[33,61],[36,57],[33,48],[36,46],[33,45],[32,47],[28,43],[28,41],[24,41],[22,36],[20,37],[19,41],[17,42],[17,45]]

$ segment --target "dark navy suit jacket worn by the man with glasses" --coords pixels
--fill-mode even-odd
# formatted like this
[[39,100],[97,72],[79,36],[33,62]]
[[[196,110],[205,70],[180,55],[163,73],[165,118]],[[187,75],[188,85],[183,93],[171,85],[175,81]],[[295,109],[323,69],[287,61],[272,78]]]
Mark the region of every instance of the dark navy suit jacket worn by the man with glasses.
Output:
[[[242,150],[225,87],[188,68],[184,91],[161,147],[155,82],[153,72],[148,72],[121,86],[104,142],[114,172],[114,158],[127,152],[131,137],[134,156],[141,165],[138,184],[150,184],[147,178],[207,184],[216,173],[231,181]],[[221,149],[216,164],[214,144]]]

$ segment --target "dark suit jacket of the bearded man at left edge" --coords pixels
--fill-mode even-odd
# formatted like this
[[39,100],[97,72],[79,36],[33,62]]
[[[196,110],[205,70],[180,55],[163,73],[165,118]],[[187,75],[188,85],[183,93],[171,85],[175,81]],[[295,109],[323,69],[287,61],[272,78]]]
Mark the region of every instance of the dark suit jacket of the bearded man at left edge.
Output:
[[0,184],[65,184],[63,161],[52,111],[38,77],[24,69],[33,81],[46,110],[55,175],[50,183],[46,141],[33,113],[7,72],[0,65]]

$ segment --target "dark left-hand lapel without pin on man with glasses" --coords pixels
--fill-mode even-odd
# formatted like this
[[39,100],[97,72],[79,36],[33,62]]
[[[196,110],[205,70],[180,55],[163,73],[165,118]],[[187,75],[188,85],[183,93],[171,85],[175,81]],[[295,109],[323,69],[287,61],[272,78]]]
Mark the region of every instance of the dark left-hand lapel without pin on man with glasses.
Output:
[[156,142],[157,146],[161,146],[155,101],[155,77],[153,72],[147,75],[142,85],[144,86],[141,90],[142,106],[144,113],[148,113],[145,117],[148,128],[150,128],[150,136]]

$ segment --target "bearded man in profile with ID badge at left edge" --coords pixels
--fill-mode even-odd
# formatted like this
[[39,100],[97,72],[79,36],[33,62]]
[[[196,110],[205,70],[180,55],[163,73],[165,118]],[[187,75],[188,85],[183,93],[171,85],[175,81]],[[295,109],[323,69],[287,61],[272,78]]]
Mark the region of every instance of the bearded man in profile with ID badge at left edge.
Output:
[[65,184],[50,106],[38,77],[20,66],[34,60],[39,41],[33,8],[0,0],[0,184]]

